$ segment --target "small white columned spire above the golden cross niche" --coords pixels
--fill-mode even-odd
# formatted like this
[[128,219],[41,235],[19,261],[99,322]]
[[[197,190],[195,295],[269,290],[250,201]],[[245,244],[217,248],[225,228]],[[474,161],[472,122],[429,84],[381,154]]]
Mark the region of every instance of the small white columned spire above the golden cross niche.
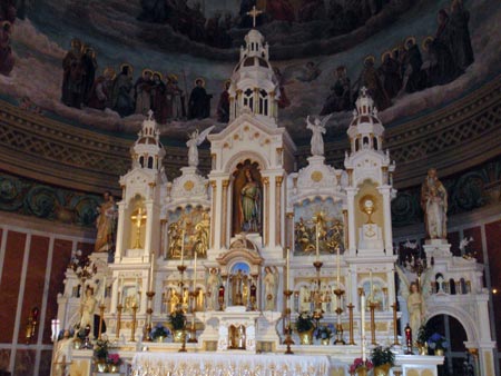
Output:
[[143,128],[138,132],[137,141],[130,148],[130,155],[132,168],[161,169],[165,149],[151,110],[148,112],[148,118],[143,121]]

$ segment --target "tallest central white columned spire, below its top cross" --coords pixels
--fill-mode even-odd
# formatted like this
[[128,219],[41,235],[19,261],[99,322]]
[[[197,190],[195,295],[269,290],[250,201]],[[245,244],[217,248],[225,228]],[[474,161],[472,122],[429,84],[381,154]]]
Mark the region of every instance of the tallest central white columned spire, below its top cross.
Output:
[[268,44],[263,34],[252,29],[240,48],[240,59],[233,70],[229,93],[229,120],[243,113],[254,113],[276,127],[278,80],[269,63]]

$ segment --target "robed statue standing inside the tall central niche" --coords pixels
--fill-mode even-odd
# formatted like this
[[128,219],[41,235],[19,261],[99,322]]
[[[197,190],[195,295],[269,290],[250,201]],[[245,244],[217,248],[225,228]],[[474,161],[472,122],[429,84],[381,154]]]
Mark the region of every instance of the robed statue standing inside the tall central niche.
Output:
[[254,179],[250,169],[245,169],[246,182],[240,190],[242,231],[258,232],[261,230],[261,187]]

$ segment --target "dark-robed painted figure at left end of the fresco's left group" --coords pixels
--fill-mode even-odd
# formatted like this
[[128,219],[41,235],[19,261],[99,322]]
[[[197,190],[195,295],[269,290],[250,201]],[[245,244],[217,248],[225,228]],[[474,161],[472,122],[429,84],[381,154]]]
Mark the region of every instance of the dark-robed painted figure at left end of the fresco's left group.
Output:
[[68,107],[81,107],[84,68],[81,66],[81,41],[71,40],[71,49],[62,59],[61,101]]

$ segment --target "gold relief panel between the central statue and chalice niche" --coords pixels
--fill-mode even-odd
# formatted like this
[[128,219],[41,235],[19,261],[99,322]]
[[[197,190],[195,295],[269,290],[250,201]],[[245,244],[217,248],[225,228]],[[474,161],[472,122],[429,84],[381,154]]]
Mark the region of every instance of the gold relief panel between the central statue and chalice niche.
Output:
[[294,206],[294,255],[344,253],[343,204],[332,198],[305,200]]

